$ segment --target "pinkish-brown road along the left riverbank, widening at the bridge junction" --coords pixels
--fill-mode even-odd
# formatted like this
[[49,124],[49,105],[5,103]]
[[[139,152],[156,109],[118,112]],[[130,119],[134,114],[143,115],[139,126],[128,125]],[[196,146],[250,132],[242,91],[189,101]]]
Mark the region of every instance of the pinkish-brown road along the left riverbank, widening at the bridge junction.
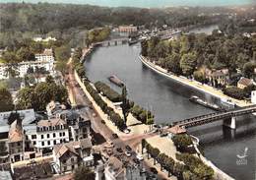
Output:
[[[76,104],[89,107],[81,108],[81,114],[87,115],[91,119],[92,128],[94,129],[94,131],[96,133],[99,133],[105,140],[111,140],[116,148],[122,148],[122,150],[125,150],[125,146],[128,145],[132,148],[133,151],[137,151],[142,139],[156,136],[156,134],[154,133],[141,135],[128,134],[114,139],[112,136],[113,132],[104,123],[102,123],[102,119],[96,114],[96,110],[92,107],[91,101],[88,99],[88,97],[85,95],[85,92],[79,87],[78,83],[76,82],[71,63],[68,64],[68,71],[69,73],[66,76],[66,83],[68,89],[70,89],[70,91],[73,93]],[[103,147],[103,145],[101,146]],[[121,155],[121,159],[124,156],[124,154]],[[135,156],[136,154],[128,158],[128,161],[133,160]],[[125,159],[127,159],[126,156]],[[150,171],[151,166],[147,162],[143,161],[140,166],[145,167],[147,171]],[[157,178],[166,179],[166,176],[160,173],[158,174]]]

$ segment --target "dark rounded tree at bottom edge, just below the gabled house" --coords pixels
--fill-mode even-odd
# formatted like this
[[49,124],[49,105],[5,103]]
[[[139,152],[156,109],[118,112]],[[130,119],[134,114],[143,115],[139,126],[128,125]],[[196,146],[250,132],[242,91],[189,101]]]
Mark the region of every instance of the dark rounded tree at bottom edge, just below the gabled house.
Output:
[[93,180],[96,179],[96,174],[88,167],[82,165],[78,167],[74,173],[75,180]]

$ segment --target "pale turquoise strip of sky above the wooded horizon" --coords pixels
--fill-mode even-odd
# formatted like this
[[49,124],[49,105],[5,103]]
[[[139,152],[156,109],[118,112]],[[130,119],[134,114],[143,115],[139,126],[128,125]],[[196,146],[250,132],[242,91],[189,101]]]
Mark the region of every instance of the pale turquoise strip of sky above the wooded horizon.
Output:
[[[256,0],[24,0],[27,3],[72,3],[91,4],[108,7],[132,6],[143,8],[161,8],[170,6],[232,6],[256,2]],[[23,2],[23,0],[0,0],[0,2]]]

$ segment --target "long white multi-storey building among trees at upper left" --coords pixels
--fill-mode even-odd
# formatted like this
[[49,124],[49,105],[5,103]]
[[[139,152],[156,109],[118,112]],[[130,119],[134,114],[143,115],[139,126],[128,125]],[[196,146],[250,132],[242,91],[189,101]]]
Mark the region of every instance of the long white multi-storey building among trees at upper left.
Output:
[[[35,54],[35,61],[24,61],[18,64],[19,77],[23,78],[28,73],[28,69],[43,68],[51,75],[54,73],[54,56],[52,49],[44,49],[43,53]],[[0,79],[8,79],[6,69],[8,67],[4,63],[0,63]]]

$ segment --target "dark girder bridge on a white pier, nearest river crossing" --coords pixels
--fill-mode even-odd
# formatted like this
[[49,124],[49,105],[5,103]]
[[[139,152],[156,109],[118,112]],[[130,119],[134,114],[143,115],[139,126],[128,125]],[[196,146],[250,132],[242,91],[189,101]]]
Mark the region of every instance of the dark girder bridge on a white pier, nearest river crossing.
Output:
[[236,116],[241,116],[241,115],[250,114],[254,112],[256,112],[256,105],[250,105],[250,106],[240,107],[240,108],[236,108],[236,109],[232,109],[224,112],[216,112],[216,113],[184,119],[181,121],[176,121],[176,122],[173,122],[172,125],[173,126],[177,125],[184,128],[190,128],[194,126],[199,126],[207,123],[224,120],[224,126],[227,126],[231,129],[235,129]]

